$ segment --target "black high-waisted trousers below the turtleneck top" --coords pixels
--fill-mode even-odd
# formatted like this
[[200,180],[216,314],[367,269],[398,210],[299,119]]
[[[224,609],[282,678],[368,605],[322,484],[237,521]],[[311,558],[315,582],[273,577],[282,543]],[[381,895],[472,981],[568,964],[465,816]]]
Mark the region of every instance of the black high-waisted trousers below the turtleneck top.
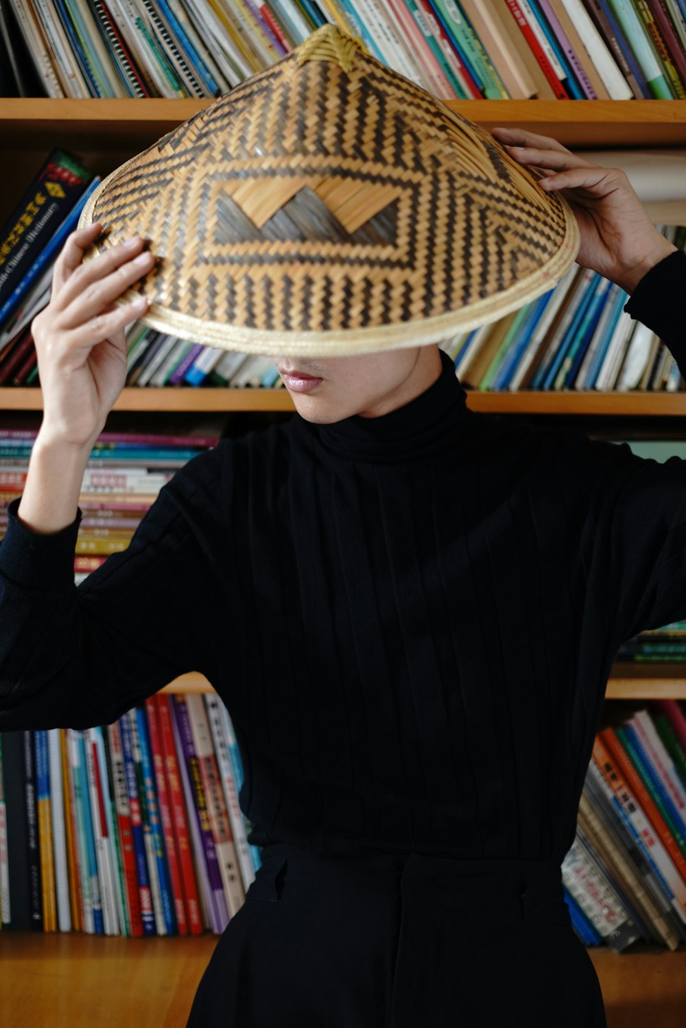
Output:
[[277,843],[187,1028],[606,1028],[558,867]]

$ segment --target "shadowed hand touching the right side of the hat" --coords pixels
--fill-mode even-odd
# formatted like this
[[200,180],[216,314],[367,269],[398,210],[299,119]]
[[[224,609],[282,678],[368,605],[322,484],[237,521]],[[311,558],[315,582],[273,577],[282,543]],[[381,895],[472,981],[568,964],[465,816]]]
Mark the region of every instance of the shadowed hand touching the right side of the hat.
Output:
[[618,168],[591,164],[549,136],[522,128],[493,128],[493,136],[521,164],[539,168],[546,192],[559,190],[581,233],[577,263],[631,293],[654,264],[677,249],[655,228]]

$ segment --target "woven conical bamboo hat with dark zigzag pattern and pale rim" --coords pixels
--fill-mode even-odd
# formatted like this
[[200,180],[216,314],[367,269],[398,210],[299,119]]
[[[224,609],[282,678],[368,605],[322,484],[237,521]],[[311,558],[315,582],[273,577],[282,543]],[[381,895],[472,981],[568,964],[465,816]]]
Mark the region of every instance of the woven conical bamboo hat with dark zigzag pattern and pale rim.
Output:
[[161,258],[147,325],[250,354],[442,342],[552,288],[576,220],[538,172],[327,25],[109,175],[79,227]]

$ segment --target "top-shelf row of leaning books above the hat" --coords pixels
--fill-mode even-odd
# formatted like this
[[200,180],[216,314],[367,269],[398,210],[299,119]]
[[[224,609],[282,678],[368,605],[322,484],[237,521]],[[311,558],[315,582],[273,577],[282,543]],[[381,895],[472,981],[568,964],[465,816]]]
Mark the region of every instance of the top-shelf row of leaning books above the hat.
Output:
[[328,22],[442,100],[686,97],[686,0],[1,0],[0,12],[4,86],[20,95],[217,97]]

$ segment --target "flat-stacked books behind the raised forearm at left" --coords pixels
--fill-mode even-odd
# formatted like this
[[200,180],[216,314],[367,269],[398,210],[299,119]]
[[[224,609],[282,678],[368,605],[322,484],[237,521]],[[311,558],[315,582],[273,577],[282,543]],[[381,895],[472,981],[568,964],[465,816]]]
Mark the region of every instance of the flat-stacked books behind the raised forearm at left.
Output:
[[[22,494],[37,430],[0,429],[0,539],[7,504]],[[76,540],[78,585],[110,553],[125,550],[159,489],[193,456],[215,446],[217,436],[103,432],[97,439],[79,495],[82,517]]]

